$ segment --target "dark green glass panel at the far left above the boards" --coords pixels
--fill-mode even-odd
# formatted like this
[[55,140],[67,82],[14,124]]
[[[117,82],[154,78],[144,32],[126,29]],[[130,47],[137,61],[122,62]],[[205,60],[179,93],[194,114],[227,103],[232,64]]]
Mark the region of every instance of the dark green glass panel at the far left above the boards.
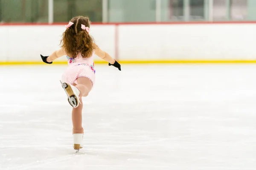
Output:
[[3,23],[47,23],[48,0],[1,0]]

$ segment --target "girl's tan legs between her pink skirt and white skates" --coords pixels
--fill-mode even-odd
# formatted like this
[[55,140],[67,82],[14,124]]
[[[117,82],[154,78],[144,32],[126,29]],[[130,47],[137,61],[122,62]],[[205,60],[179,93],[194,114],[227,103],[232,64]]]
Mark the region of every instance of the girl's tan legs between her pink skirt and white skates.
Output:
[[90,90],[92,89],[93,85],[90,79],[87,79],[85,77],[80,77],[77,79],[77,85],[76,88],[79,89],[80,95],[79,100],[80,104],[77,108],[73,108],[72,110],[72,122],[73,122],[73,134],[74,133],[84,133],[84,129],[82,127],[82,109],[83,109],[83,102],[81,97],[82,96],[88,96]]

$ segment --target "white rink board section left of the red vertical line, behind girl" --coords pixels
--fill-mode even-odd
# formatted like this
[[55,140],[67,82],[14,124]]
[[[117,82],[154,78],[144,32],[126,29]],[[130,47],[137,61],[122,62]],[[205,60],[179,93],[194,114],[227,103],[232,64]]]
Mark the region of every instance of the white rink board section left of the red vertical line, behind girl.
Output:
[[[50,55],[60,48],[64,31],[64,26],[0,26],[0,61],[40,61],[40,54]],[[91,34],[99,47],[115,54],[114,25],[93,26]]]

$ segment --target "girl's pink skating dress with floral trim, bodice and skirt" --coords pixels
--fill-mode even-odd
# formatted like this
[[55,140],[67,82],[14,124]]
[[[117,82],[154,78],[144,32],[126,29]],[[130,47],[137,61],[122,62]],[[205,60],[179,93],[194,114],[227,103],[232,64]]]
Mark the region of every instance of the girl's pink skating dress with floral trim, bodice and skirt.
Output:
[[76,58],[70,58],[67,56],[68,67],[62,75],[62,81],[69,84],[77,84],[79,77],[86,77],[90,79],[94,85],[95,81],[95,69],[94,69],[94,51],[91,57],[83,58],[81,53]]

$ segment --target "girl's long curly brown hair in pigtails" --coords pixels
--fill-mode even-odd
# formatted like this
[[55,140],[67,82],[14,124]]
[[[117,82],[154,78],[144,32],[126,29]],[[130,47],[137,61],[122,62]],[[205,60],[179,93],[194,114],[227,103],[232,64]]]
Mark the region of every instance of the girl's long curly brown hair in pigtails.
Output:
[[88,58],[93,54],[96,48],[93,37],[86,30],[81,28],[81,24],[90,28],[90,20],[88,17],[74,17],[70,20],[74,23],[66,29],[62,35],[62,48],[69,57],[76,58],[81,53],[82,57]]

